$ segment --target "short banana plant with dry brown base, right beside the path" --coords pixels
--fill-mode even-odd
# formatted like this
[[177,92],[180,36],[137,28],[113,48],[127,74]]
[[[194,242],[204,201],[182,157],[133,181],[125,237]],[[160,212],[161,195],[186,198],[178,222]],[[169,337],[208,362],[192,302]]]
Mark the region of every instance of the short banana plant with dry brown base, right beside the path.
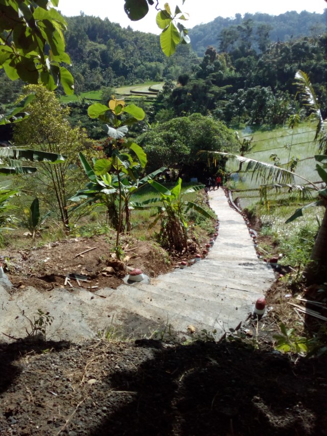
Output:
[[149,209],[153,204],[160,203],[156,206],[154,220],[149,225],[149,230],[160,221],[159,238],[162,245],[167,246],[182,253],[188,247],[188,230],[189,226],[186,221],[186,214],[190,209],[194,209],[206,218],[214,218],[213,213],[209,213],[193,201],[185,200],[184,196],[192,192],[200,191],[204,185],[193,186],[181,192],[181,178],[178,179],[173,189],[169,190],[156,180],[149,180],[148,183],[160,194],[159,197],[150,198],[142,203],[133,203],[135,209]]

